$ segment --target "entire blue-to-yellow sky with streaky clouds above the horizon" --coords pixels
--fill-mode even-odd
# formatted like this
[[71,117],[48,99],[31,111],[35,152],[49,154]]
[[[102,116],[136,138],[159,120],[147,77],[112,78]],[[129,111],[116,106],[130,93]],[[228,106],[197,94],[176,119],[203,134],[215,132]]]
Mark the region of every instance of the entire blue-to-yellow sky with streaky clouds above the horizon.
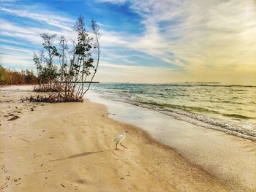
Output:
[[256,85],[255,0],[0,0],[0,64],[35,69],[43,32],[100,26],[99,82]]

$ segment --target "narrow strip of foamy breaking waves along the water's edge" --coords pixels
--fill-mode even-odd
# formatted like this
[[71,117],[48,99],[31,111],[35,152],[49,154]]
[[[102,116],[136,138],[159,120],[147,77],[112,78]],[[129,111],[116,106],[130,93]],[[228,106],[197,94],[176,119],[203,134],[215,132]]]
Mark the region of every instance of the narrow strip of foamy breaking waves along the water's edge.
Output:
[[256,142],[256,128],[249,123],[238,124],[231,120],[210,118],[206,115],[199,115],[194,112],[172,109],[170,107],[161,107],[153,104],[143,104],[130,98],[121,97],[119,94],[109,91],[93,90],[89,93],[88,98],[96,102],[103,102],[103,104],[107,105],[109,104],[109,101],[110,103],[111,101],[118,101],[122,103],[132,104],[135,106],[160,112],[162,114],[176,118],[177,120],[183,120],[197,126],[215,129],[217,131],[225,132],[226,134],[234,135],[236,137],[242,137],[244,139],[250,139]]

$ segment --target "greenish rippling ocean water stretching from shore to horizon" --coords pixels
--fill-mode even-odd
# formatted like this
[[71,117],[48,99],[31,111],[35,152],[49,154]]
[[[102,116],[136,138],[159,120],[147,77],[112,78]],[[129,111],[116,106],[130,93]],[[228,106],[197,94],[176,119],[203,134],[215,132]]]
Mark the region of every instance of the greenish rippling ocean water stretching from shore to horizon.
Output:
[[205,128],[256,141],[256,86],[219,83],[93,84],[105,99],[122,101]]

